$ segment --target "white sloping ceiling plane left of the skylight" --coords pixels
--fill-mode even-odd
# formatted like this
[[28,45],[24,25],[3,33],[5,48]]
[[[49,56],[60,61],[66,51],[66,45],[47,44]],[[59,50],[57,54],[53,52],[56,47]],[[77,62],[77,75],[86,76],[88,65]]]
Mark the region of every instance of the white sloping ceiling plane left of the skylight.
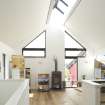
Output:
[[0,41],[22,48],[46,25],[50,0],[0,0]]

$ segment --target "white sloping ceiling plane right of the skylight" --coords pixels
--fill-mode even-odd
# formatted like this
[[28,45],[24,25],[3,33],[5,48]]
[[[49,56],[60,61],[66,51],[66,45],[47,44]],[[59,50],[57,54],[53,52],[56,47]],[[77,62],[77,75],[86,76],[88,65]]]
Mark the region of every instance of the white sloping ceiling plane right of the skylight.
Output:
[[81,0],[66,26],[93,52],[105,49],[105,0]]

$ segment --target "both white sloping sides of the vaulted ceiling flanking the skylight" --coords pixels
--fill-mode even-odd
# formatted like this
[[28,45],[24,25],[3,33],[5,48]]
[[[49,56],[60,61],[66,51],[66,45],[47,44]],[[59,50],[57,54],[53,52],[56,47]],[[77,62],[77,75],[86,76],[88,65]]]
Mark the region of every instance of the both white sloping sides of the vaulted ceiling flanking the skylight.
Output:
[[[0,0],[0,41],[22,48],[46,26],[50,0]],[[105,47],[105,0],[81,0],[68,30],[93,52]]]

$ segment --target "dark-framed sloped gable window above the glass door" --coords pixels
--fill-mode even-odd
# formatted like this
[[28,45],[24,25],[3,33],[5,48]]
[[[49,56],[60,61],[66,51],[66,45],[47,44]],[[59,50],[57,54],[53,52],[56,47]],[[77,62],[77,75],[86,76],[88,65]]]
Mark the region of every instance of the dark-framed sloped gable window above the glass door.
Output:
[[65,58],[83,57],[85,52],[86,48],[65,31]]

